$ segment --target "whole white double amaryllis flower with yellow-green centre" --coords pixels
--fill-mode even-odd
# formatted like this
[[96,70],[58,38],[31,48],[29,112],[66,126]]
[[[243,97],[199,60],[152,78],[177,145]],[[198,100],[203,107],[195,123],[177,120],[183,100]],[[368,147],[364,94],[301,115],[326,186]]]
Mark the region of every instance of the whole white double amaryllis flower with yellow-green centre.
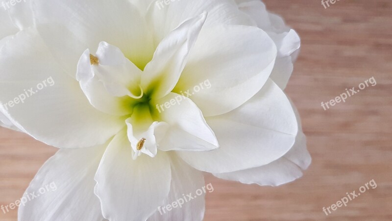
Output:
[[26,193],[57,190],[21,205],[19,220],[202,220],[204,196],[157,208],[203,187],[203,171],[276,186],[309,166],[283,92],[299,38],[260,1],[30,3],[9,14],[19,31],[0,49],[1,111],[61,149]]

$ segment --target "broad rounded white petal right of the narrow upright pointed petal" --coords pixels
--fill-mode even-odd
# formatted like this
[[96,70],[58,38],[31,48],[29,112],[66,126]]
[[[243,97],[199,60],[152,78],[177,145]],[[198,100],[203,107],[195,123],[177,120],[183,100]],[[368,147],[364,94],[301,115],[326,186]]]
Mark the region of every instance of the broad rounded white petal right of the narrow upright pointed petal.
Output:
[[[190,90],[204,116],[232,111],[254,96],[267,81],[276,47],[261,29],[219,26],[204,29],[174,88]],[[210,87],[196,91],[205,81]]]

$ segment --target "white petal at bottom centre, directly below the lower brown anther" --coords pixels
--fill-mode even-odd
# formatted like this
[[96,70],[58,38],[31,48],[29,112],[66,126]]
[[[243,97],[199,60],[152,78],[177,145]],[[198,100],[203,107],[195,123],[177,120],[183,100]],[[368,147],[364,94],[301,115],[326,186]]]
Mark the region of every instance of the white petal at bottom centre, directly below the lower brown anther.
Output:
[[132,160],[123,130],[109,144],[95,177],[103,216],[111,221],[146,221],[168,196],[171,177],[165,152]]

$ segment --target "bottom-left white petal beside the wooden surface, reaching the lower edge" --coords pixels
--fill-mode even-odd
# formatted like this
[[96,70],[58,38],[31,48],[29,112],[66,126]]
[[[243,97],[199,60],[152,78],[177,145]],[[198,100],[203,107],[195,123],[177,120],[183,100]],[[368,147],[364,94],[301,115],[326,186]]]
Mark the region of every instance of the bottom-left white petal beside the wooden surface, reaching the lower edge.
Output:
[[105,148],[59,150],[31,181],[24,196],[37,197],[21,204],[18,220],[102,221],[94,175]]

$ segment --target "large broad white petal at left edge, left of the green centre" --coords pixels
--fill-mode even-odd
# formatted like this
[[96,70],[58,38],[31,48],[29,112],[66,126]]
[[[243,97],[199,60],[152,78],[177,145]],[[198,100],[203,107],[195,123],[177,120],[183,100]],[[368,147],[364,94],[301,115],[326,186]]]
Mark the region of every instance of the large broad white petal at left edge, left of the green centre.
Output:
[[[125,119],[103,114],[88,103],[77,81],[56,64],[33,29],[19,32],[1,49],[0,68],[5,114],[40,141],[64,148],[89,147],[104,143],[123,127]],[[19,96],[24,102],[19,98],[10,107]]]

